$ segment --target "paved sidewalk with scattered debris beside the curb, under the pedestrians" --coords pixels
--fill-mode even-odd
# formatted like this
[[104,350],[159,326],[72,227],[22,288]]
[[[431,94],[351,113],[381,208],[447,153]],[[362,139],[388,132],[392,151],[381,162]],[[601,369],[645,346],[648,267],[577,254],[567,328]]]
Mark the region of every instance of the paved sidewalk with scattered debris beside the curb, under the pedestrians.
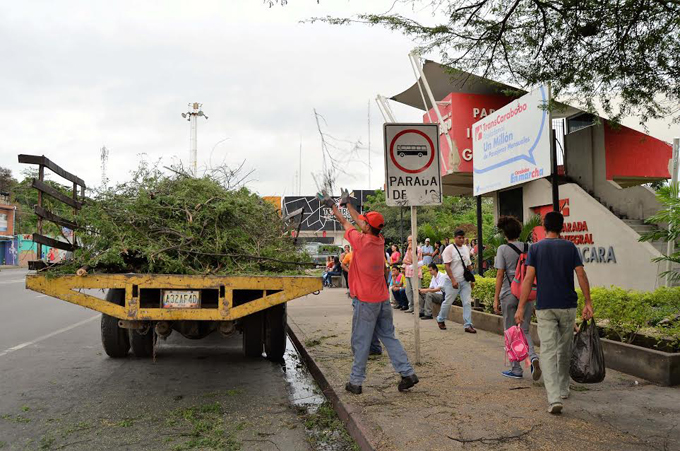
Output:
[[[607,370],[601,384],[572,385],[560,416],[547,413],[542,381],[500,375],[500,335],[421,321],[420,383],[397,391],[386,354],[371,358],[362,395],[344,390],[352,365],[352,306],[345,289],[288,304],[288,323],[346,410],[377,450],[680,450],[680,387],[658,387]],[[394,310],[397,336],[414,359],[413,315]]]

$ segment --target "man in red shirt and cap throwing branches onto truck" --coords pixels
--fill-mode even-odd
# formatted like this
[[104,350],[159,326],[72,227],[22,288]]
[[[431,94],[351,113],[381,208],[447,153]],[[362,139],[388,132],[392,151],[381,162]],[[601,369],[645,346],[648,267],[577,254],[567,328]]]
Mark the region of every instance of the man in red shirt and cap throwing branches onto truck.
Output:
[[383,216],[375,211],[359,215],[350,202],[347,190],[342,190],[340,205],[347,206],[352,219],[361,229],[359,232],[340,213],[335,202],[325,191],[319,194],[322,203],[333,209],[338,222],[345,228],[345,239],[354,249],[349,267],[349,291],[355,301],[352,317],[352,350],[354,363],[349,382],[345,389],[356,395],[361,394],[361,385],[366,378],[366,362],[371,340],[375,333],[387,349],[392,366],[401,375],[397,388],[405,391],[418,383],[418,376],[408,361],[404,347],[394,336],[392,307],[385,285],[385,238],[380,231],[385,225]]

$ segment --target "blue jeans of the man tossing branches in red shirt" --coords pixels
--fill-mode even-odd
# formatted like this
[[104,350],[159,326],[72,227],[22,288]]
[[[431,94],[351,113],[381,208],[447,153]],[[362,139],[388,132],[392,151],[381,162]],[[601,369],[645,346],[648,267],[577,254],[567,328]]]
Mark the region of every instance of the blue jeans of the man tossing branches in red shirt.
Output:
[[408,356],[401,342],[394,336],[392,307],[390,301],[362,302],[354,299],[354,316],[352,317],[352,351],[354,363],[349,382],[361,385],[366,379],[366,362],[371,342],[374,337],[380,339],[390,356],[392,367],[403,377],[415,374],[408,362]]

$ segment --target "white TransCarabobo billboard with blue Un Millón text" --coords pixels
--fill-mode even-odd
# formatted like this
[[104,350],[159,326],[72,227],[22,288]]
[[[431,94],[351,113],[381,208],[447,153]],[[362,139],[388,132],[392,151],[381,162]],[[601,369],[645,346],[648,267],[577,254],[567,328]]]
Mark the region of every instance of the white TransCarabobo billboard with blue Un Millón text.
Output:
[[475,196],[550,175],[549,99],[541,86],[473,124]]

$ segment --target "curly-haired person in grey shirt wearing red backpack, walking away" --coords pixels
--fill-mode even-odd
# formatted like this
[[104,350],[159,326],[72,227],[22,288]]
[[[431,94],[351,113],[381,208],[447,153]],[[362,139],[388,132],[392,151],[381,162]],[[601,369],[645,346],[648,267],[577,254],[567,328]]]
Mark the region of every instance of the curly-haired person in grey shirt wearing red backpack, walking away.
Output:
[[[522,233],[522,223],[514,216],[501,216],[498,218],[497,227],[503,232],[508,243],[500,245],[496,251],[494,266],[498,272],[496,273],[496,293],[493,299],[493,309],[496,313],[503,313],[504,329],[508,330],[515,326],[515,313],[519,305],[519,299],[513,294],[512,288],[513,286],[520,288],[521,278],[525,273],[525,260],[529,244],[518,241]],[[534,305],[531,303],[524,309],[522,331],[529,348],[531,376],[533,380],[537,381],[541,378],[541,366],[530,334],[531,317],[533,314]],[[521,379],[523,373],[522,364],[519,361],[512,361],[512,367],[507,371],[501,372],[503,376],[511,379]]]

